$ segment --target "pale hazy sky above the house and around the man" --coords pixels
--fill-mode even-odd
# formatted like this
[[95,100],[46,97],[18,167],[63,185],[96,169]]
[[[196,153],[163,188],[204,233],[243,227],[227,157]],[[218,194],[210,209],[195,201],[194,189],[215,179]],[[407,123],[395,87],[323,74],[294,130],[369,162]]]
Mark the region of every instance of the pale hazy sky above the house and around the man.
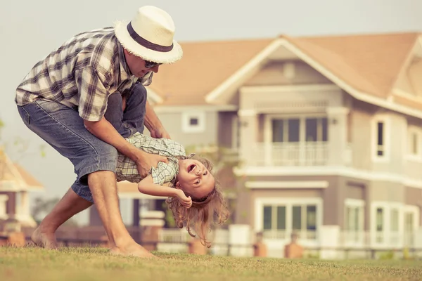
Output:
[[[119,3],[119,4],[118,4]],[[68,2],[3,1],[0,4],[0,119],[6,124],[1,141],[12,159],[33,174],[46,188],[34,197],[61,197],[75,181],[73,167],[55,150],[29,131],[15,107],[15,88],[38,60],[72,35],[131,20],[137,8],[154,5],[172,15],[175,39],[214,41],[290,36],[322,36],[385,32],[422,32],[421,0],[155,0]],[[204,54],[206,55],[206,54]],[[224,65],[222,66],[224,67]],[[13,148],[15,138],[30,143],[25,157]],[[132,204],[122,200],[122,216],[130,222]],[[75,218],[88,222],[87,211]]]

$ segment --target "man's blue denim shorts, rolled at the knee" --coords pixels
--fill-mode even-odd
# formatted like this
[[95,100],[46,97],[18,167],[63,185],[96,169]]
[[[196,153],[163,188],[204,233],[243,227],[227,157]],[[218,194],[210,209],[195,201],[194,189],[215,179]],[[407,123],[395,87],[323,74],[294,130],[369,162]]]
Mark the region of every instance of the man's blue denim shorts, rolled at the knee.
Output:
[[88,174],[94,171],[115,172],[117,150],[91,134],[77,110],[60,103],[36,100],[19,106],[25,125],[72,162],[77,179],[72,190],[94,202],[88,187]]

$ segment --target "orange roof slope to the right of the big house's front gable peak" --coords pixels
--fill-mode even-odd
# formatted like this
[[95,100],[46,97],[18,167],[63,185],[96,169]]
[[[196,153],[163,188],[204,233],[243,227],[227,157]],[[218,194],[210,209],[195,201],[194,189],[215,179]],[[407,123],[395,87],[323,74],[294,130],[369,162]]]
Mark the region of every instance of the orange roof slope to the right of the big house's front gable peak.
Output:
[[286,37],[359,91],[387,97],[418,33]]

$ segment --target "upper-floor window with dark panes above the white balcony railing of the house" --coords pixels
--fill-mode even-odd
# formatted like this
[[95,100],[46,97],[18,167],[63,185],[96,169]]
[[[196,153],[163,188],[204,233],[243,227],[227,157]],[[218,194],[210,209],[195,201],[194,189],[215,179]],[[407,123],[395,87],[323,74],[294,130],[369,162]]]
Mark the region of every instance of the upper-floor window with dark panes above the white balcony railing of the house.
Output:
[[272,119],[274,143],[326,142],[328,119],[326,117],[293,117]]

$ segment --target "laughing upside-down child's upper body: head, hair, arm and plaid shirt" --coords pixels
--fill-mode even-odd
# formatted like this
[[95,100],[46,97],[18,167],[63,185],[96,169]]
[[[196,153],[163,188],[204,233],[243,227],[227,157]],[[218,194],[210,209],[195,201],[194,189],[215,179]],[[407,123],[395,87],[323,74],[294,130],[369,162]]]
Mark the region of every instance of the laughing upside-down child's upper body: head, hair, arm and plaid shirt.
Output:
[[186,156],[184,147],[171,139],[151,138],[136,132],[126,140],[145,152],[167,156],[169,162],[159,162],[157,168],[151,167],[146,178],[141,178],[135,162],[119,154],[117,181],[139,183],[139,192],[168,197],[167,206],[177,226],[183,228],[185,223],[189,235],[195,237],[193,228],[200,242],[210,247],[206,235],[211,225],[222,224],[229,216],[218,183],[211,174],[211,162],[196,155]]

